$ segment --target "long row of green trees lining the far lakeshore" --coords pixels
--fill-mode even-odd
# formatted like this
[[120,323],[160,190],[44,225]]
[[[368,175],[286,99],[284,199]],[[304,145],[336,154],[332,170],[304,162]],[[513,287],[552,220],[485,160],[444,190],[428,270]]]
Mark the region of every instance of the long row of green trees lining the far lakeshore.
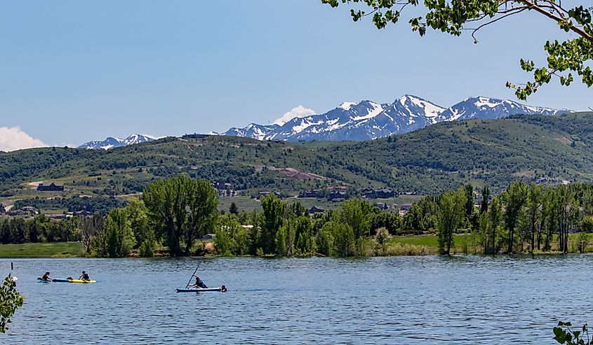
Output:
[[[593,232],[593,185],[528,185],[514,182],[500,195],[472,185],[427,196],[399,216],[364,199],[309,215],[299,202],[269,195],[262,211],[218,211],[218,197],[205,180],[179,175],[156,181],[142,197],[107,216],[50,220],[0,220],[0,242],[81,241],[85,255],[171,256],[204,253],[204,234],[214,233],[218,255],[364,256],[436,253],[429,246],[403,245],[393,235],[437,234],[438,253],[455,250],[465,234],[474,253],[584,252]],[[575,234],[571,234],[575,233]],[[571,234],[571,236],[569,236]],[[457,244],[459,246],[460,244]],[[405,247],[405,248],[404,248]]]

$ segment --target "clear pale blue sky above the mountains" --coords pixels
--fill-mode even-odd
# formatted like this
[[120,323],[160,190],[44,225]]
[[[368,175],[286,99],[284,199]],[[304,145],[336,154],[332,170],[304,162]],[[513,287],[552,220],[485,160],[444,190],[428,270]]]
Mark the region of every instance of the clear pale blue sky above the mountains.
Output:
[[[564,35],[535,13],[484,29],[474,45],[419,38],[406,21],[378,31],[319,0],[3,1],[0,136],[19,127],[61,146],[222,132],[297,106],[322,113],[403,94],[441,106],[514,99],[505,82],[528,77],[519,58],[542,62],[546,38]],[[592,94],[554,82],[528,104],[587,110]]]

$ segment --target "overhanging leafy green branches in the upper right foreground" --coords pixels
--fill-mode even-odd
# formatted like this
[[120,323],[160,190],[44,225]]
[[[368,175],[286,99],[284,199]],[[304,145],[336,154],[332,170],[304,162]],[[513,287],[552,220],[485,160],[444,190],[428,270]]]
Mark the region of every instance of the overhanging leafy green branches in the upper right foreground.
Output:
[[568,6],[557,0],[321,0],[337,7],[340,3],[357,3],[350,14],[354,21],[371,15],[373,24],[379,29],[389,23],[396,23],[402,17],[405,8],[420,6],[425,15],[412,16],[408,20],[412,31],[424,36],[428,28],[461,36],[463,31],[471,33],[474,43],[478,43],[477,34],[481,29],[505,20],[509,16],[538,15],[558,25],[559,30],[570,32],[575,37],[566,36],[564,41],[547,41],[544,50],[547,53],[547,66],[535,67],[530,60],[521,59],[521,69],[532,73],[532,80],[516,87],[507,82],[507,87],[517,89],[519,99],[526,99],[545,85],[557,78],[561,85],[571,85],[575,76],[582,83],[593,85],[593,8],[585,3],[572,3]]

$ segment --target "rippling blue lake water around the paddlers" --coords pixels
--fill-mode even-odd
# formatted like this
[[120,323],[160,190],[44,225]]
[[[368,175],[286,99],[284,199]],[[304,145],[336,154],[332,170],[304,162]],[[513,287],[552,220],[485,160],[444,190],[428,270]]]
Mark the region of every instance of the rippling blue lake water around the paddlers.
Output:
[[[25,305],[0,344],[554,344],[593,321],[590,255],[11,262]],[[196,267],[229,291],[175,293]]]

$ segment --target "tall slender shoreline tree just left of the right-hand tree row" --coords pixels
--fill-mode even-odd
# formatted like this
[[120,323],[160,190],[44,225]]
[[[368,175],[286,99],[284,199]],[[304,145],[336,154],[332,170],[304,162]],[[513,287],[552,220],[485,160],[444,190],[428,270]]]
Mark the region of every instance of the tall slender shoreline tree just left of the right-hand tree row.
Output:
[[451,255],[453,233],[463,224],[465,216],[465,190],[450,190],[441,195],[439,202],[439,253]]

